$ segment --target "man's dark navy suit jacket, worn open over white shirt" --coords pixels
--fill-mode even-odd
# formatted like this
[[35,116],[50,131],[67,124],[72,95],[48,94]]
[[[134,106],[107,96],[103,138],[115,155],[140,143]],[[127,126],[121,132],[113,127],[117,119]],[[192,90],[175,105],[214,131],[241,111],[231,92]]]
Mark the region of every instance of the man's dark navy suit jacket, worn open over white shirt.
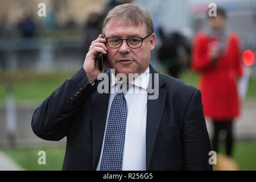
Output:
[[[150,65],[150,73],[159,72]],[[108,102],[109,94],[98,93],[81,68],[35,110],[31,125],[38,137],[67,137],[63,170],[96,169]],[[209,151],[200,90],[159,73],[159,97],[147,101],[146,169],[211,170]]]

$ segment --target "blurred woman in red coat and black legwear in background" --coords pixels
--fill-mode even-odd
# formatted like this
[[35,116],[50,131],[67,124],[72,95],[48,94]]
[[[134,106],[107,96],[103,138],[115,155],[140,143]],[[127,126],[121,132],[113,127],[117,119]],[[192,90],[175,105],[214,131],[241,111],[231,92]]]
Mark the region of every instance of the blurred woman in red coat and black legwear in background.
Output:
[[226,13],[217,9],[209,28],[195,36],[192,47],[194,71],[201,73],[200,90],[204,115],[214,124],[212,146],[218,151],[218,135],[226,131],[226,154],[232,155],[233,119],[240,114],[237,80],[242,75],[240,40],[226,25]]

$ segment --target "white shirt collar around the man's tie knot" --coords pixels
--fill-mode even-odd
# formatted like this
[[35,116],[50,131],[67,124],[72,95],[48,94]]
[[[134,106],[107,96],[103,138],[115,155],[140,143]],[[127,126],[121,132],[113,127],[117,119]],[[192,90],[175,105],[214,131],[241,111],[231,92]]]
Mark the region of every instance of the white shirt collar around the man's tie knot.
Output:
[[[129,83],[133,84],[135,86],[141,87],[144,90],[147,90],[148,81],[149,81],[149,73],[150,73],[150,69],[149,69],[149,67],[147,67],[146,71],[141,73],[141,75],[139,75],[139,77],[135,78],[133,81],[130,81]],[[117,80],[117,78],[111,72],[110,87],[115,86],[115,84],[117,84],[119,82],[122,82],[122,81]]]

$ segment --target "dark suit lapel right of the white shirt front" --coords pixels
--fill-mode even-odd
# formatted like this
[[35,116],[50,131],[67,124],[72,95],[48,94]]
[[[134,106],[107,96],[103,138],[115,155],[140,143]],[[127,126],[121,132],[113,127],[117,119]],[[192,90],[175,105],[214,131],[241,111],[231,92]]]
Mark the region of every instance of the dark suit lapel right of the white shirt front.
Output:
[[[154,68],[150,65],[150,73],[152,73],[152,85],[154,86]],[[151,79],[150,79],[151,81]],[[150,159],[155,146],[156,136],[160,126],[160,121],[163,115],[164,105],[166,103],[166,90],[160,87],[166,81],[159,74],[159,97],[156,100],[147,100],[147,126],[146,126],[146,169],[150,164]],[[149,94],[149,93],[148,93]]]

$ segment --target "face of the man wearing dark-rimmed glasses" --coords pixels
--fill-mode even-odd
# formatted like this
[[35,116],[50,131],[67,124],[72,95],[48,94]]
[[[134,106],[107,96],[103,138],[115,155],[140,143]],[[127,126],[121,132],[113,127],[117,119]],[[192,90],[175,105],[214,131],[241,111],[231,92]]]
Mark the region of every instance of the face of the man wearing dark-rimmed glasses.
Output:
[[[106,38],[144,38],[147,36],[144,26],[132,26],[124,23],[122,20],[112,19],[105,27]],[[130,48],[126,41],[123,40],[119,48],[108,47],[108,64],[115,69],[115,74],[129,73],[141,74],[146,71],[150,64],[150,53],[155,47],[155,34],[150,35],[143,40],[139,48]]]

